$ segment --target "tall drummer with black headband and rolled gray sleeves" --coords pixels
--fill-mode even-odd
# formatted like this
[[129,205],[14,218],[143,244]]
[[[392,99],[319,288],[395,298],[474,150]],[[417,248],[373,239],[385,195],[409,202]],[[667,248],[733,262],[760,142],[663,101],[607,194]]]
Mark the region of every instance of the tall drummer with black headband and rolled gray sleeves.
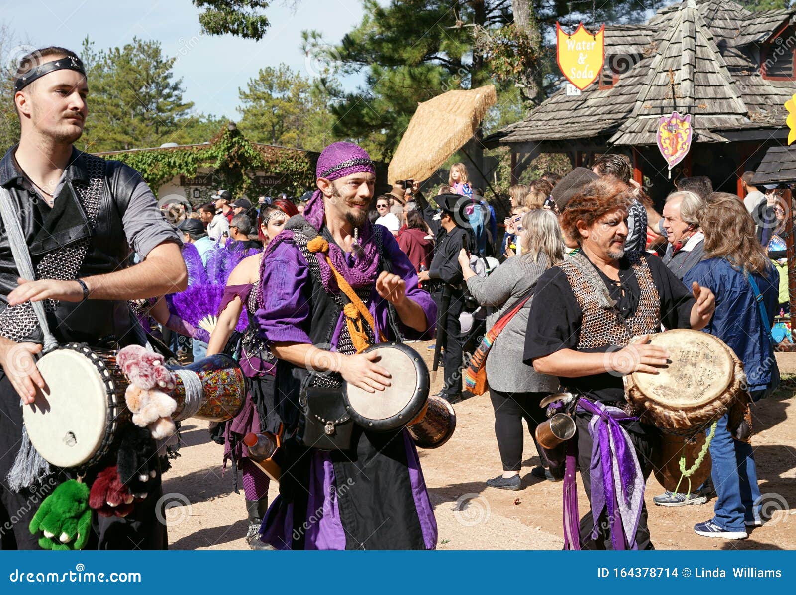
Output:
[[[127,300],[185,290],[187,273],[174,228],[158,212],[139,173],[72,145],[88,115],[88,81],[74,52],[46,48],[21,60],[14,79],[20,141],[0,161],[7,191],[6,215],[18,218],[35,278],[21,278],[12,254],[10,222],[0,224],[0,549],[37,549],[29,523],[53,485],[55,472],[20,484],[22,407],[43,399],[37,370],[44,333],[33,302],[45,304],[45,319],[58,344],[115,348],[139,342]],[[101,134],[101,131],[100,131]],[[14,233],[14,238],[19,236]],[[127,266],[131,249],[143,261]],[[41,314],[41,311],[40,311]],[[21,404],[22,403],[22,404]],[[154,457],[157,459],[157,457]],[[125,518],[94,515],[88,548],[166,548],[166,527],[155,514],[160,496],[157,461],[146,500]],[[22,465],[25,466],[25,465]],[[30,465],[28,465],[30,466]],[[37,469],[39,471],[39,469]],[[16,474],[16,475],[15,475]],[[57,476],[57,481],[49,481]],[[62,537],[62,536],[61,536]],[[48,535],[45,538],[50,539]],[[59,539],[55,535],[52,539]],[[57,548],[66,549],[56,543]]]

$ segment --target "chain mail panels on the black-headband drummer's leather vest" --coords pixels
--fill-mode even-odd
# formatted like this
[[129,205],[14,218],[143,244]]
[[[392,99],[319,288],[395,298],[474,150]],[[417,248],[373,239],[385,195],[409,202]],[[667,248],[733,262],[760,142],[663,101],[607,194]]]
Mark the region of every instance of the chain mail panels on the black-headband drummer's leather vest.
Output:
[[[73,181],[72,187],[86,213],[88,225],[93,231],[96,228],[97,215],[102,204],[106,161],[101,157],[85,153],[81,158],[88,169],[88,181]],[[89,238],[80,239],[47,252],[36,266],[36,278],[60,281],[76,279],[90,241]],[[47,300],[45,302],[47,309],[53,310],[56,306],[57,301]],[[29,303],[14,305],[0,312],[2,334],[10,340],[21,341],[28,338],[37,327],[36,314]]]

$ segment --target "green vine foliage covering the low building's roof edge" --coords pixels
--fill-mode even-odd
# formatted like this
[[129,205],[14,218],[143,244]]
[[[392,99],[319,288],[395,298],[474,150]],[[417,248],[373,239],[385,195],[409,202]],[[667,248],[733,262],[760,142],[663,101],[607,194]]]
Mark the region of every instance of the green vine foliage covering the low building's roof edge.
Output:
[[174,177],[194,177],[198,169],[211,167],[219,188],[228,189],[232,196],[246,194],[250,198],[264,193],[256,185],[258,174],[278,178],[275,185],[268,186],[267,193],[302,194],[314,185],[318,161],[317,153],[255,145],[248,142],[240,130],[229,130],[227,126],[207,145],[163,147],[103,154],[102,157],[130,165],[141,173],[155,193]]

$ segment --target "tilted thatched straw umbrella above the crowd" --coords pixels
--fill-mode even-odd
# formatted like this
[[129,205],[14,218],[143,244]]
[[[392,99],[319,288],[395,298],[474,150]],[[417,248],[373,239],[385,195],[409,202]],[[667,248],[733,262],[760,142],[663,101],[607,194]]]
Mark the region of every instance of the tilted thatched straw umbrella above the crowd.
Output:
[[426,180],[472,138],[497,103],[494,85],[448,91],[419,103],[388,168],[388,181]]

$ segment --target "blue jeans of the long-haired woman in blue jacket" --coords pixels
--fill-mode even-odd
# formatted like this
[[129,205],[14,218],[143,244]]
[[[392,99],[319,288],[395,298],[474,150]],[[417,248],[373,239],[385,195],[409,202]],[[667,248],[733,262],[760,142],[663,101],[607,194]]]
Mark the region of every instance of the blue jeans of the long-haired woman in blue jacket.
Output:
[[711,477],[716,487],[713,522],[725,531],[746,531],[743,521],[760,514],[755,455],[751,445],[730,435],[727,415],[716,424],[710,457],[713,461]]

